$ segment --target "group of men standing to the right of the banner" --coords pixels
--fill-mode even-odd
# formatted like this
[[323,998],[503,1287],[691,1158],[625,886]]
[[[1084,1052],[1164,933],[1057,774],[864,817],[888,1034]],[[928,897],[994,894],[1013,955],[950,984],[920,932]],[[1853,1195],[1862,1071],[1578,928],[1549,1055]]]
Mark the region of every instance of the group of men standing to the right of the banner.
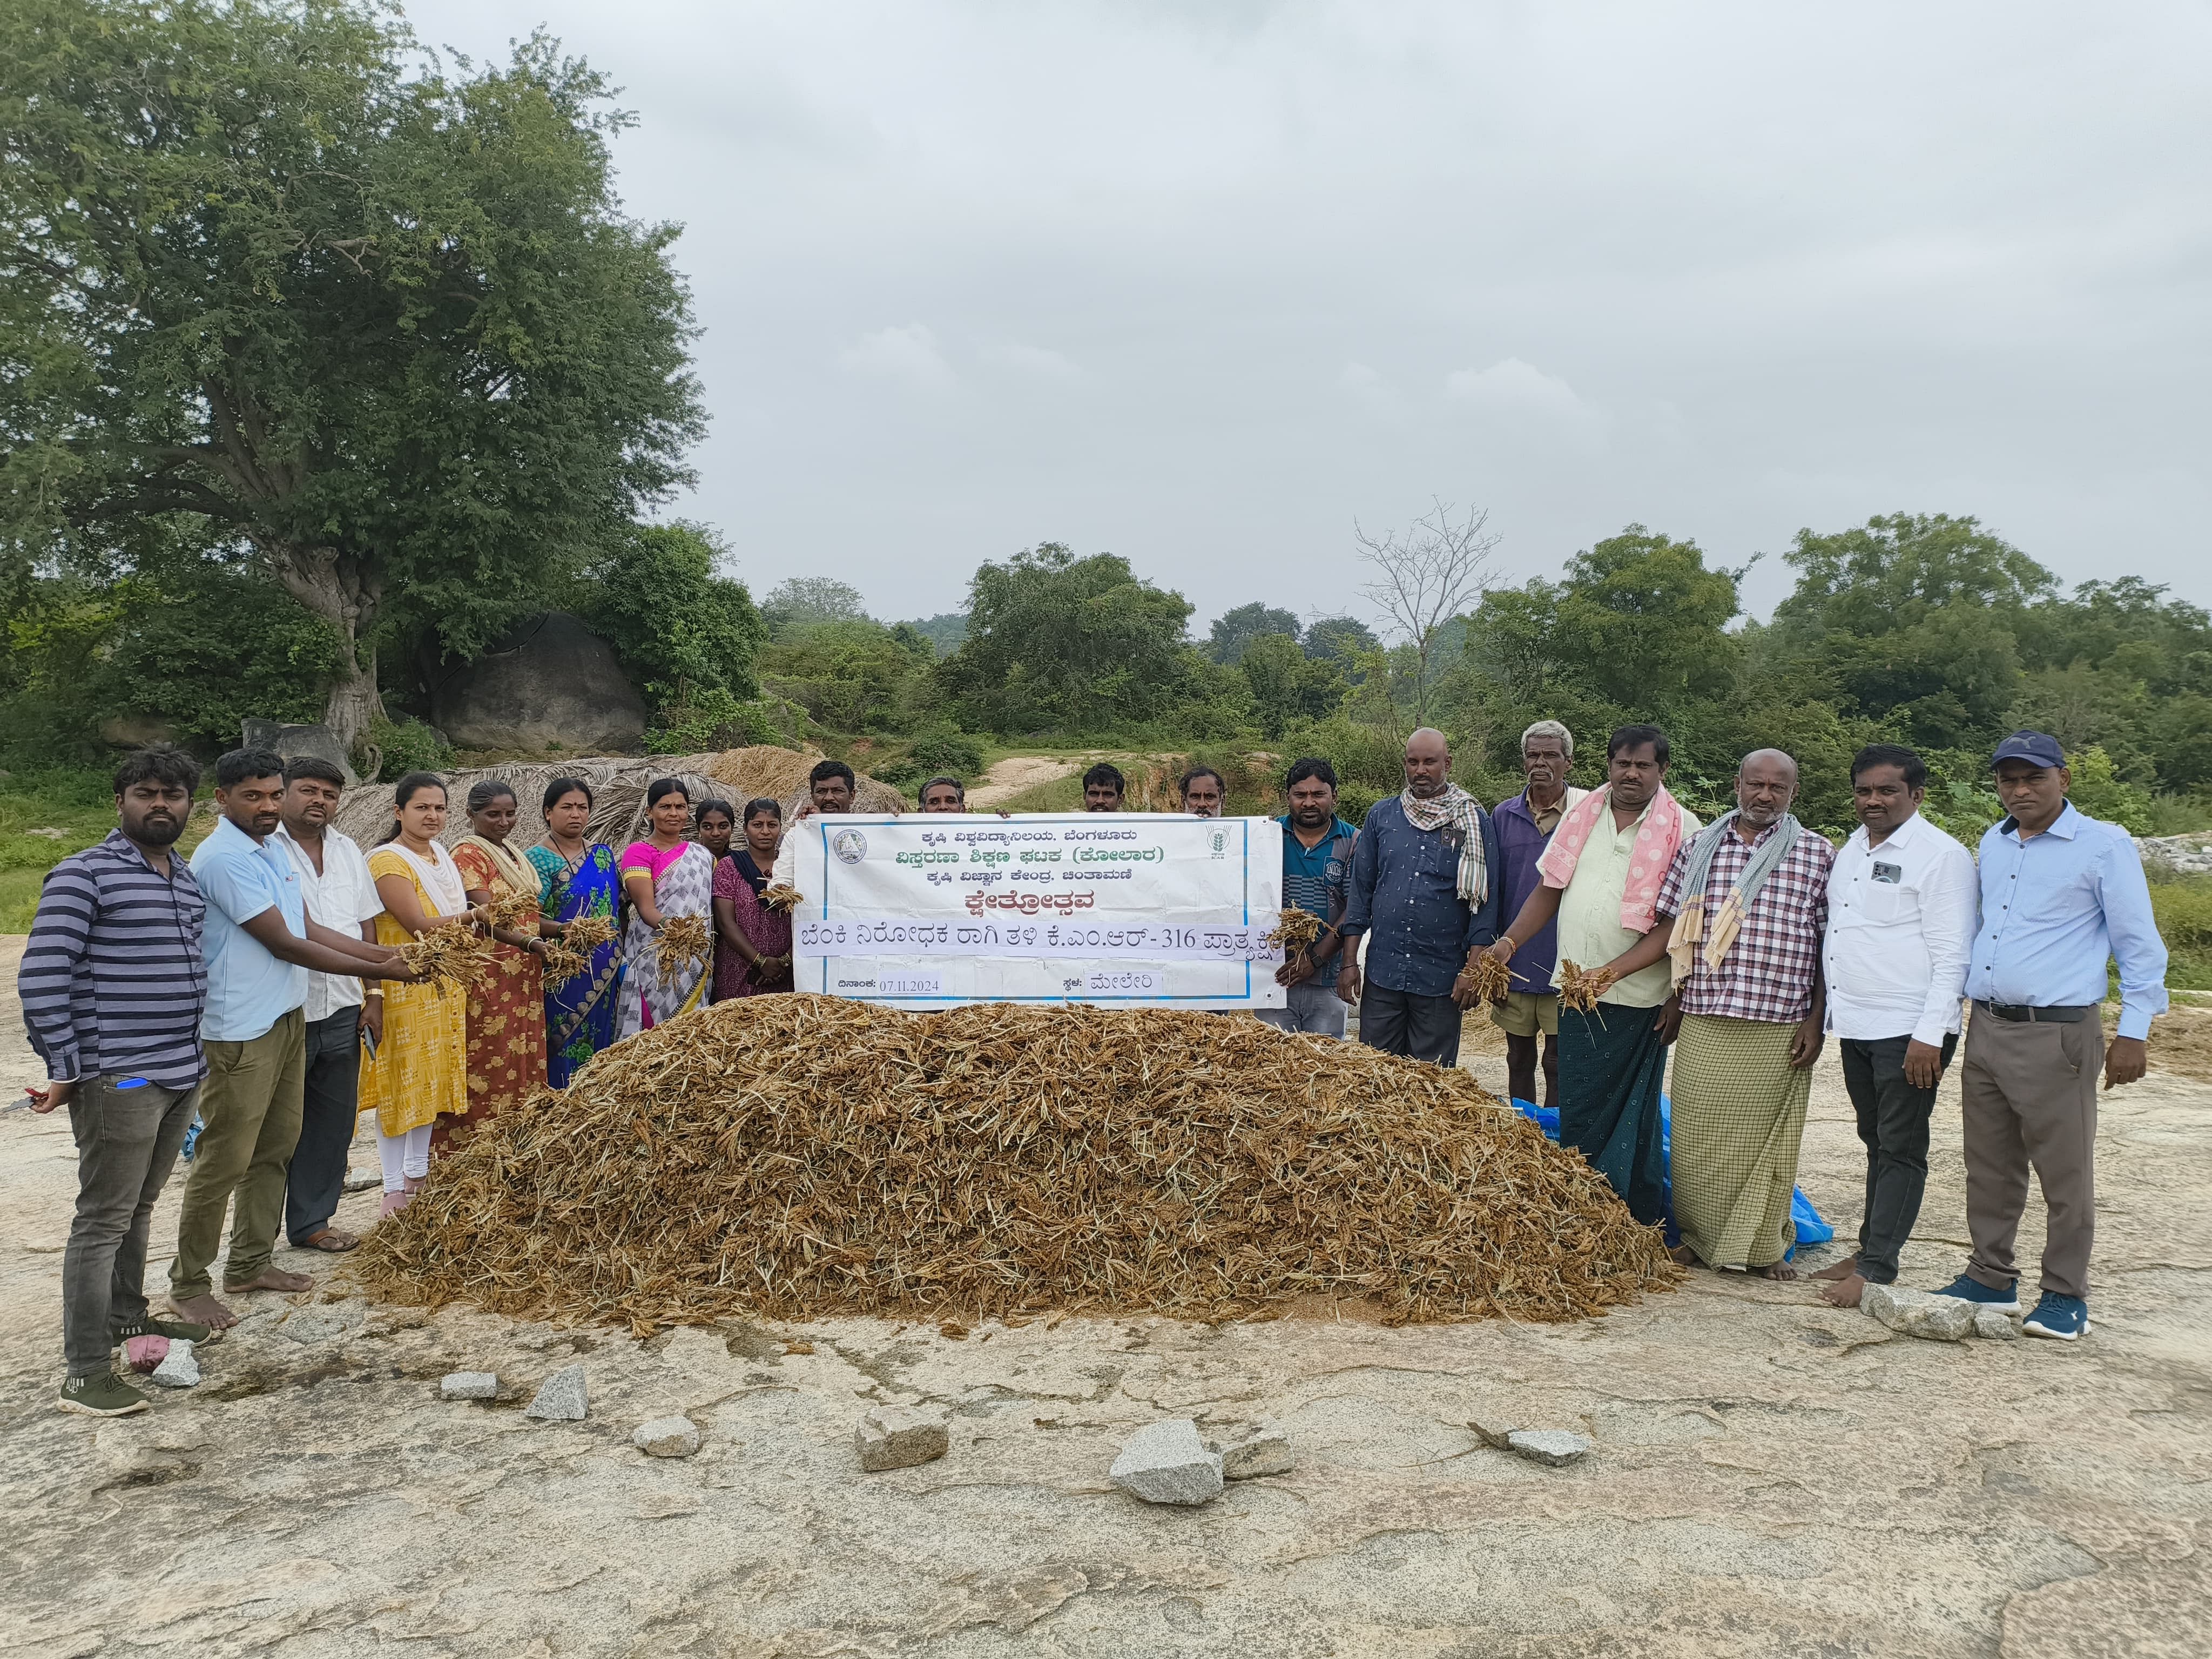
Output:
[[1405,790],[1352,832],[1327,765],[1298,761],[1283,896],[1325,927],[1279,973],[1290,1006],[1272,1018],[1343,1035],[1356,1004],[1363,1042],[1451,1066],[1462,1015],[1489,1002],[1513,1095],[1535,1102],[1542,1075],[1562,1144],[1639,1221],[1670,1221],[1679,1261],[1767,1279],[1796,1276],[1798,1144],[1834,1035],[1867,1150],[1858,1245],[1816,1274],[1836,1305],[1898,1276],[1964,1029],[1973,1250],[1942,1294],[2020,1312],[2013,1243],[2033,1172],[2048,1230],[2024,1329],[2081,1336],[2099,1073],[2106,1088],[2139,1079],[2166,1011],[2135,841],[2070,805],[2066,754],[2044,732],[1991,757],[2006,816],[1980,858],[1920,816],[1927,768],[1896,743],[1854,757],[1860,825],[1840,849],[1792,814],[1790,754],[1745,754],[1736,805],[1710,825],[1668,792],[1668,763],[1666,732],[1621,726],[1604,781],[1582,790],[1573,732],[1537,721],[1522,734],[1526,787],[1484,810],[1451,783],[1444,734],[1420,730]]

